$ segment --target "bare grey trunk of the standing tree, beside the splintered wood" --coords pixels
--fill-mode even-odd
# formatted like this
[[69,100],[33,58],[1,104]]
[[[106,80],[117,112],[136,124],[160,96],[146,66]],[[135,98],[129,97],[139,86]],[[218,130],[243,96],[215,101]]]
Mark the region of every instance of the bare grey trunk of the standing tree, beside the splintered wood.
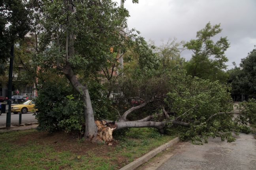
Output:
[[81,85],[81,83],[79,83],[69,63],[63,67],[63,72],[74,89],[83,97],[85,107],[85,137],[93,139],[97,135],[98,128],[94,122],[92,102],[90,100],[88,88],[86,85]]

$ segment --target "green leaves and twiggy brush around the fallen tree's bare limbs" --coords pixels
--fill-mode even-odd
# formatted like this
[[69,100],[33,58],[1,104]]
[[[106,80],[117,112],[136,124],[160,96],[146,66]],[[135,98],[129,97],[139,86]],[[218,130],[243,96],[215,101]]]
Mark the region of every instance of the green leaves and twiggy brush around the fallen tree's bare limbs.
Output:
[[[136,96],[144,102],[154,101],[130,113],[127,117],[129,120],[139,120],[158,113],[154,121],[168,121],[162,113],[165,107],[170,120],[176,118],[190,125],[182,127],[169,123],[165,131],[178,133],[182,140],[192,140],[194,144],[207,142],[209,137],[220,137],[230,142],[234,140],[232,131],[246,130],[244,124],[233,120],[233,114],[228,113],[233,110],[228,92],[230,87],[219,81],[193,78],[187,76],[185,70],[179,69],[155,71],[151,76],[144,75],[138,79],[123,77],[119,80],[117,87],[120,86],[122,98]],[[139,137],[136,134],[134,136]]]

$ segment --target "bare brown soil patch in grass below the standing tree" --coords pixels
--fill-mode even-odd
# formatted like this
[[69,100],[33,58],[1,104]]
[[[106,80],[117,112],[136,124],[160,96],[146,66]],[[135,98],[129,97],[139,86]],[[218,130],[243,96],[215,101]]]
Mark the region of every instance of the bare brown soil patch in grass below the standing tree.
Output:
[[[64,132],[56,132],[49,134],[47,132],[35,132],[33,135],[23,135],[13,142],[16,145],[26,145],[28,141],[33,141],[38,145],[47,145],[54,148],[56,152],[70,151],[76,155],[88,155],[90,153],[97,153],[97,156],[103,158],[111,158],[113,155],[109,155],[109,152],[115,150],[118,142],[113,142],[112,146],[107,146],[106,144],[92,143],[89,140],[79,139],[78,135],[67,134]],[[122,165],[128,163],[128,159],[121,155],[115,155],[117,161],[113,163],[118,164],[118,168],[121,168]]]

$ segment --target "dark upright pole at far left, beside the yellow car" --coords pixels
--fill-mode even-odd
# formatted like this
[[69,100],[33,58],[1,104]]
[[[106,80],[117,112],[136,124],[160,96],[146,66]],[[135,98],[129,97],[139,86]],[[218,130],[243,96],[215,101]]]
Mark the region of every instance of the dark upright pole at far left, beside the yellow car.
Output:
[[11,57],[9,66],[9,81],[8,81],[8,113],[6,114],[6,127],[11,127],[11,91],[12,91],[12,76],[13,76],[13,55],[14,44],[11,45]]

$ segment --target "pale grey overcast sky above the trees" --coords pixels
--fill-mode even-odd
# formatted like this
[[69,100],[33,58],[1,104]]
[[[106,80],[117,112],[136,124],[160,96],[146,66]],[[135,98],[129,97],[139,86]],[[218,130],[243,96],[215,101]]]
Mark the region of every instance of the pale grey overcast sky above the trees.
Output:
[[[226,65],[239,64],[256,45],[256,0],[139,0],[139,4],[126,0],[124,7],[130,12],[129,29],[136,28],[156,45],[173,37],[195,39],[209,21],[221,23],[220,36],[230,42]],[[188,60],[191,53],[184,51],[181,56]]]

